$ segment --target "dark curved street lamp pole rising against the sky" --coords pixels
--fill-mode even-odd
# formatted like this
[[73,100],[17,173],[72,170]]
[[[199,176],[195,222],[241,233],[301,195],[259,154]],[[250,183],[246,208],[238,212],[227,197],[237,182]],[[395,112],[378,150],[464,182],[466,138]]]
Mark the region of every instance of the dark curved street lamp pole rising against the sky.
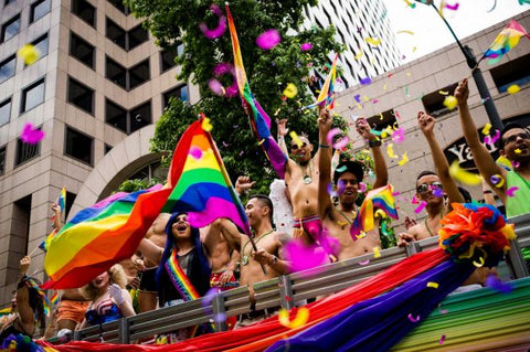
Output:
[[456,43],[458,44],[458,47],[460,47],[462,53],[466,57],[467,65],[469,66],[473,74],[473,78],[475,79],[475,83],[477,84],[478,93],[480,94],[480,97],[483,98],[484,102],[484,107],[486,108],[486,114],[488,114],[489,121],[491,122],[491,126],[495,129],[498,129],[499,131],[502,130],[502,120],[499,117],[499,113],[497,111],[497,108],[495,107],[495,103],[491,99],[491,95],[489,94],[489,89],[486,86],[486,82],[484,81],[483,72],[480,68],[478,68],[477,65],[477,60],[475,58],[475,55],[473,54],[473,50],[467,46],[467,45],[462,45],[460,41],[456,36],[455,32],[451,28],[449,23],[447,20],[442,15],[442,13],[438,11],[436,6],[434,4],[433,0],[414,0],[416,2],[421,2],[424,4],[430,4],[433,7],[433,9],[436,11],[436,13],[439,15],[439,18],[444,21],[445,25],[449,29],[451,34],[453,34],[453,38],[455,39]]

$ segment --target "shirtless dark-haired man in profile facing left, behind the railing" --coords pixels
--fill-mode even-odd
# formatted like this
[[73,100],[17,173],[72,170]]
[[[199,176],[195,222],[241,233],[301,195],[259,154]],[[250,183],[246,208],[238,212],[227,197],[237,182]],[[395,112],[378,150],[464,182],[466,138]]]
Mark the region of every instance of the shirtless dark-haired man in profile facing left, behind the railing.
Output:
[[[254,252],[247,235],[241,234],[237,227],[226,218],[219,218],[214,225],[221,228],[231,245],[241,253],[241,285],[248,285],[251,295],[251,309],[254,302],[254,284],[265,281],[289,273],[289,265],[284,259],[283,246],[289,239],[286,234],[277,233],[273,228],[273,203],[266,195],[251,196],[245,206],[248,223],[254,233]],[[266,274],[263,271],[265,268]],[[255,322],[268,314],[267,311],[256,311],[245,314],[240,320],[240,326]]]

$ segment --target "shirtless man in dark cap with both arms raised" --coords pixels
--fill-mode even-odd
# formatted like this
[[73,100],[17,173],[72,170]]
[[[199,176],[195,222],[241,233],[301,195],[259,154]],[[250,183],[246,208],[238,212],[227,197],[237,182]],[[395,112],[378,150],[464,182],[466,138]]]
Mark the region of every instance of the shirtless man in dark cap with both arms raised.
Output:
[[[372,148],[375,168],[375,182],[373,188],[380,188],[388,182],[388,170],[381,151],[381,141],[370,132],[370,126],[365,119],[356,121],[357,131],[369,140]],[[327,145],[327,136],[331,128],[331,117],[326,110],[320,111],[318,118],[320,148],[330,148]],[[335,169],[333,182],[336,185],[343,185],[339,192],[339,204],[333,206],[328,193],[328,184],[331,182],[331,154],[321,153],[318,164],[320,174],[318,180],[318,214],[322,220],[324,227],[329,235],[333,236],[340,245],[337,257],[339,260],[349,259],[373,252],[380,246],[378,226],[368,232],[357,241],[351,238],[350,227],[357,215],[356,200],[359,190],[359,182],[362,181],[362,166],[356,161],[341,162]]]

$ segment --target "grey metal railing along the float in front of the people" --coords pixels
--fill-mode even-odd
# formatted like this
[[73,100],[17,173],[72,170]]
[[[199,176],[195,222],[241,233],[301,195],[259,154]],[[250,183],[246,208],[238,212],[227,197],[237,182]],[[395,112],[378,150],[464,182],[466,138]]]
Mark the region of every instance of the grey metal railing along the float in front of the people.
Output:
[[[511,277],[517,279],[529,276],[519,248],[530,246],[530,214],[509,221],[516,224],[518,238],[512,243],[508,266]],[[436,246],[437,237],[427,238],[415,242],[406,249],[400,247],[383,249],[378,258],[373,254],[365,254],[254,284],[255,309],[278,306],[290,309],[294,307],[294,302],[338,292],[381,273],[407,256]],[[226,317],[250,311],[248,287],[243,286],[220,292],[213,301],[208,303],[201,298],[135,317],[121,318],[100,327],[75,331],[74,340],[131,343],[138,339],[209,322],[214,323],[216,331],[225,331]]]

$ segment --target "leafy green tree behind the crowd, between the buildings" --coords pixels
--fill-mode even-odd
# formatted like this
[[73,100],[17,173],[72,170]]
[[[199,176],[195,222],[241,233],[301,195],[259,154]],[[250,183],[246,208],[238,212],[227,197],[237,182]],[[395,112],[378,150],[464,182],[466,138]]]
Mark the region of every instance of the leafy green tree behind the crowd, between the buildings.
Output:
[[[212,120],[213,138],[232,179],[240,174],[251,175],[257,181],[255,191],[268,193],[274,172],[257,140],[251,135],[240,97],[218,96],[208,86],[218,64],[233,62],[229,31],[210,40],[199,28],[201,22],[210,29],[218,26],[220,18],[210,10],[212,2],[125,0],[125,4],[135,17],[145,19],[144,25],[157,38],[158,45],[176,51],[180,43],[184,44],[183,54],[176,57],[176,63],[181,66],[178,78],[198,85],[202,97],[192,107],[178,100],[171,102],[157,124],[157,132],[151,140],[152,150],[171,152],[189,122],[202,111]],[[333,28],[300,30],[304,8],[315,4],[316,0],[241,0],[230,3],[254,96],[272,119],[288,118],[292,130],[298,134],[305,131],[311,140],[316,140],[317,136],[316,111],[300,109],[315,100],[307,83],[314,67],[322,70],[330,62],[329,53],[343,50],[343,45],[333,39]],[[224,13],[222,2],[219,6]],[[282,42],[265,51],[255,41],[269,29],[279,31]],[[303,52],[300,45],[304,43],[311,43],[311,50]],[[219,79],[225,87],[233,84],[231,75]],[[298,88],[293,99],[283,97],[288,83]]]

